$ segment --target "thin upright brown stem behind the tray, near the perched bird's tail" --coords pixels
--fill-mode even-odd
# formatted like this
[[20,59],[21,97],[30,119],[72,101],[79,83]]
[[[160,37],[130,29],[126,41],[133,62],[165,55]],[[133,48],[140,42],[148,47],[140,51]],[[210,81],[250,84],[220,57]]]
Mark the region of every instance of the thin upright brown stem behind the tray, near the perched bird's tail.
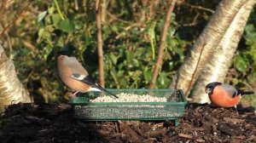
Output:
[[96,29],[97,29],[97,47],[99,57],[99,77],[100,84],[104,87],[104,59],[103,59],[103,46],[102,46],[102,22],[101,22],[101,0],[96,0]]

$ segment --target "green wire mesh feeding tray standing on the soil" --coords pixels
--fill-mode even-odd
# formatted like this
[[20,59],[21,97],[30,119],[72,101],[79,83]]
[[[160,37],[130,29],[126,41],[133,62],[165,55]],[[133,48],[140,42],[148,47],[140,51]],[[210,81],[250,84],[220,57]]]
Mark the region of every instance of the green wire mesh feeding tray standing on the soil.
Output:
[[74,115],[90,121],[174,120],[183,116],[186,100],[179,89],[108,89],[113,94],[137,94],[166,98],[160,102],[90,102],[102,92],[89,92],[72,100]]

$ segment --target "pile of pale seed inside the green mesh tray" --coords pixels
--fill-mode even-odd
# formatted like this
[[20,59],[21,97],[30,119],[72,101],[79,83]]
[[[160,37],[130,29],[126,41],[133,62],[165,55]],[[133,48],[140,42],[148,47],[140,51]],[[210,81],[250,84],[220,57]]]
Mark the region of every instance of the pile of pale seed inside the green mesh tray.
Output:
[[119,98],[113,98],[112,96],[99,96],[96,99],[90,100],[90,102],[166,102],[165,97],[155,97],[149,94],[116,94]]

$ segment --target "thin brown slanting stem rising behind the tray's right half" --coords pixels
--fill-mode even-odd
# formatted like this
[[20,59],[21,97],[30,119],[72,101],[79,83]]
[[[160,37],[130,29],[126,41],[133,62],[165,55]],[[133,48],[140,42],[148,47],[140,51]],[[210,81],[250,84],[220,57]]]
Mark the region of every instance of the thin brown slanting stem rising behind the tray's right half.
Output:
[[166,14],[166,20],[165,20],[165,24],[163,26],[162,35],[161,35],[161,39],[160,39],[160,46],[159,46],[159,50],[158,50],[158,56],[157,56],[157,60],[154,64],[154,72],[153,72],[153,76],[152,76],[152,79],[151,79],[151,82],[150,82],[150,85],[149,85],[150,89],[154,88],[154,83],[155,83],[156,78],[158,76],[159,67],[160,67],[161,62],[162,62],[162,57],[163,57],[164,48],[165,48],[167,30],[168,30],[168,27],[170,26],[171,15],[172,15],[172,11],[174,9],[175,3],[176,3],[176,0],[172,0],[172,2],[170,3],[169,9],[167,11],[167,14]]

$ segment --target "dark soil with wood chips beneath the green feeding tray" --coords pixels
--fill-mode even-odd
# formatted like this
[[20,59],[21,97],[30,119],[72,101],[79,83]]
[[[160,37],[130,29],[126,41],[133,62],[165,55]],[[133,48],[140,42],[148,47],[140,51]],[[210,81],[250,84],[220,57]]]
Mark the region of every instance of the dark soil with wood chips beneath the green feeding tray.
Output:
[[0,142],[256,142],[253,107],[222,109],[189,104],[171,121],[85,122],[67,105],[9,106],[0,118]]

